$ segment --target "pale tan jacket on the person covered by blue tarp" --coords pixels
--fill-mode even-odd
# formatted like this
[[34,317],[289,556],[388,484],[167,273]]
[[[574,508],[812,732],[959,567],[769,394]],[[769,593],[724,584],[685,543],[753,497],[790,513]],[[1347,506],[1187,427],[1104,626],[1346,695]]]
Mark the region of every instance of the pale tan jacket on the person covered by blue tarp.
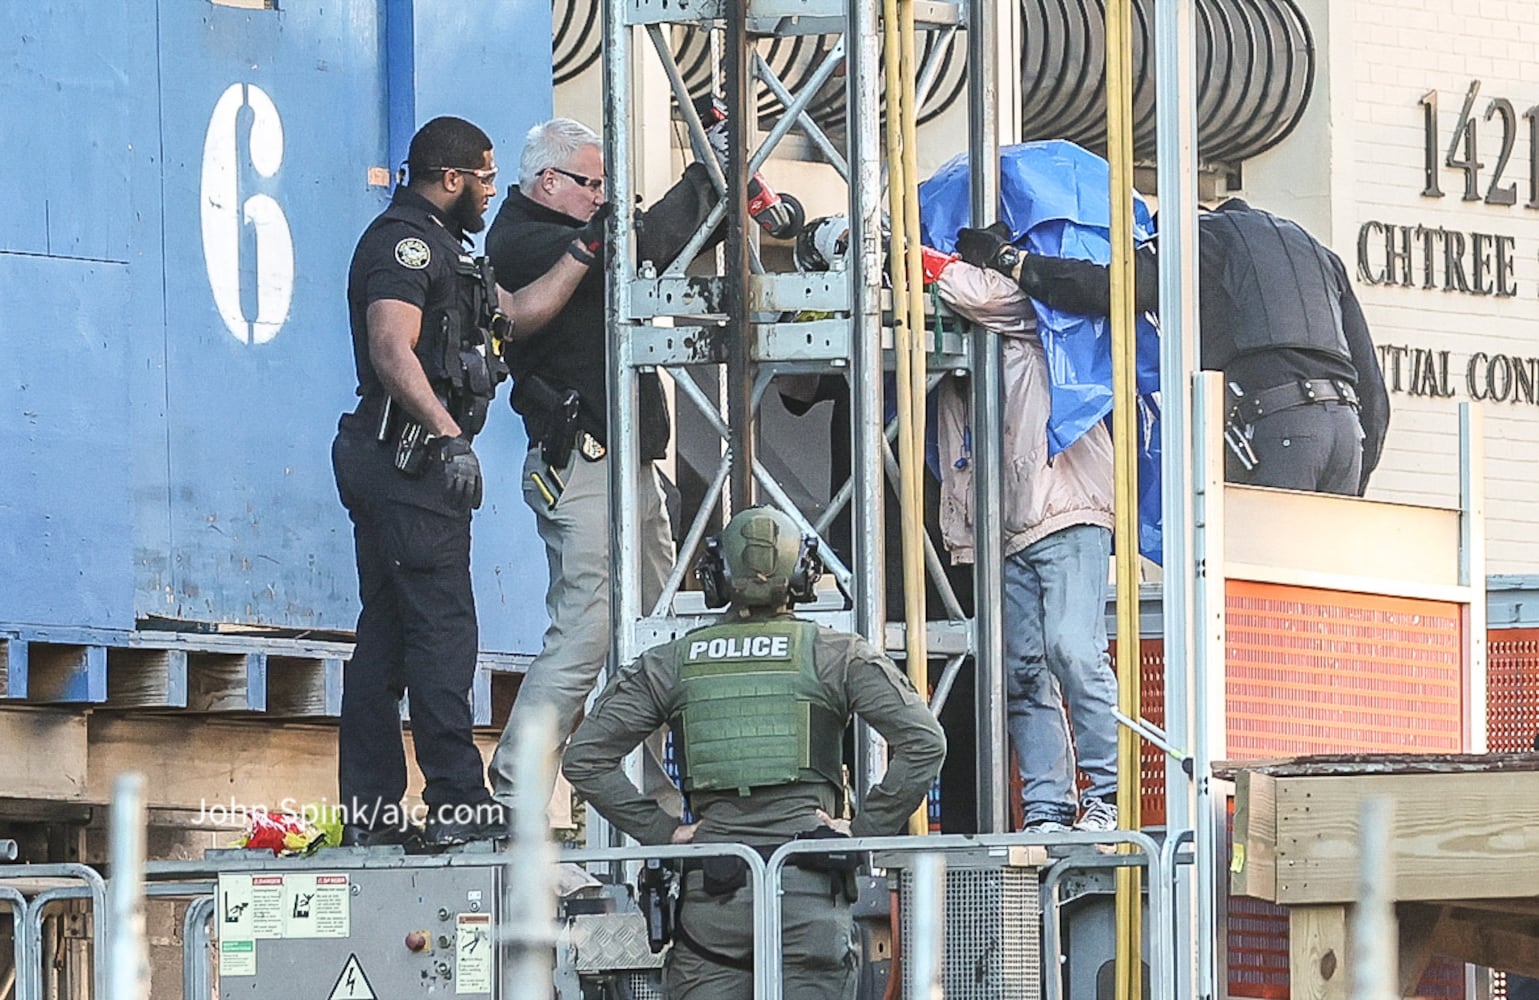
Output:
[[[1097,423],[1048,458],[1048,368],[1031,300],[997,271],[960,260],[936,280],[940,298],[1000,337],[1003,369],[1005,555],[1074,525],[1111,529],[1111,434]],[[953,563],[973,562],[971,386],[946,378],[936,389],[940,449],[940,534]]]

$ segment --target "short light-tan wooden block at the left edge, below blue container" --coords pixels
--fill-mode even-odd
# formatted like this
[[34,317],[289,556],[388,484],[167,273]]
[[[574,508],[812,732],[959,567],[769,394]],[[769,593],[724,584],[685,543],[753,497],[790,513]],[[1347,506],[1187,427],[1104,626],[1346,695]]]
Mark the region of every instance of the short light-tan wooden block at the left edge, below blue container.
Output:
[[86,788],[86,715],[0,708],[0,798],[77,802]]

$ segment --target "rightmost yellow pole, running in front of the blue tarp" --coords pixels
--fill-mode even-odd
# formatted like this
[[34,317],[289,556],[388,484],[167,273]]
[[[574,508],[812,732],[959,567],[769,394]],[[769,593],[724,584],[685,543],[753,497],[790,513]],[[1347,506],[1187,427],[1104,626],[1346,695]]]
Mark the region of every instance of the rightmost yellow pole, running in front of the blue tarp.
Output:
[[[1117,708],[1139,711],[1139,466],[1133,334],[1133,0],[1107,0],[1107,162],[1111,166],[1111,437],[1117,549]],[[1117,728],[1117,825],[1142,826],[1139,737]],[[1117,869],[1116,997],[1142,995],[1142,882]]]

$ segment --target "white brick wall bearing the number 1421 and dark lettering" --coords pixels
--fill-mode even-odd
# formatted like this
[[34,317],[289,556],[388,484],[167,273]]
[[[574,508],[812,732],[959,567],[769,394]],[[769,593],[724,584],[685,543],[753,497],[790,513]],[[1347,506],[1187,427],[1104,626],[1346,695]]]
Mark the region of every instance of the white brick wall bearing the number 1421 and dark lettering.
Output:
[[[1539,357],[1539,211],[1528,200],[1528,123],[1519,118],[1504,185],[1517,183],[1517,205],[1464,202],[1464,174],[1439,171],[1442,198],[1424,198],[1422,108],[1439,95],[1439,163],[1471,80],[1481,80],[1473,117],[1479,125],[1481,194],[1501,151],[1501,122],[1485,122],[1491,98],[1517,115],[1539,105],[1539,3],[1533,0],[1328,0],[1305,3],[1333,74],[1311,114],[1284,146],[1247,165],[1245,194],[1280,214],[1299,195],[1282,163],[1304,149],[1331,160],[1330,232],[1356,274],[1356,235],[1365,222],[1444,226],[1514,237],[1517,295],[1477,297],[1420,288],[1368,286],[1362,300],[1374,342],[1447,349],[1448,400],[1391,394],[1394,415],[1370,495],[1410,503],[1453,503],[1457,492],[1457,415],[1471,352]],[[1302,212],[1300,212],[1302,214]],[[1320,234],[1322,238],[1325,234]],[[1417,251],[1419,252],[1419,251]],[[1419,257],[1417,257],[1419,278]],[[1441,269],[1439,269],[1441,274]],[[1487,569],[1539,574],[1539,405],[1485,403]]]

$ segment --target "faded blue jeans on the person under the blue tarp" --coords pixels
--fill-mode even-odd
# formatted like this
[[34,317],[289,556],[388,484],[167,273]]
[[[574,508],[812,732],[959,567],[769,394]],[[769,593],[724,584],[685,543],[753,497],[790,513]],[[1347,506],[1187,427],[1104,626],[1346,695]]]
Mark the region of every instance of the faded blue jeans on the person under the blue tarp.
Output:
[[1088,795],[1117,791],[1117,680],[1107,655],[1111,532],[1056,531],[1005,557],[1005,692],[1025,822],[1079,814],[1070,720]]

